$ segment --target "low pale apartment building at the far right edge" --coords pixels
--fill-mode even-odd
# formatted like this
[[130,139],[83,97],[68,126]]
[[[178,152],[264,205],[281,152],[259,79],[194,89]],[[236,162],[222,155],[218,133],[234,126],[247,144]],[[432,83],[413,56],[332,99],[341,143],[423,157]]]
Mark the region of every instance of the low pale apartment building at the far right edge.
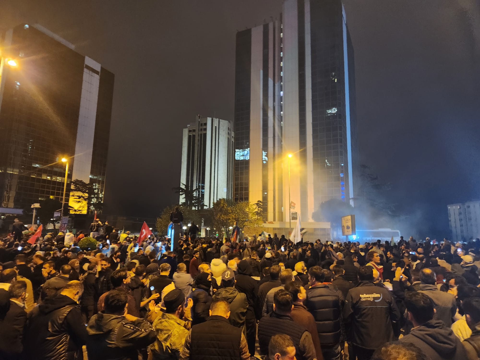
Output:
[[447,209],[454,242],[480,238],[480,200],[450,204]]

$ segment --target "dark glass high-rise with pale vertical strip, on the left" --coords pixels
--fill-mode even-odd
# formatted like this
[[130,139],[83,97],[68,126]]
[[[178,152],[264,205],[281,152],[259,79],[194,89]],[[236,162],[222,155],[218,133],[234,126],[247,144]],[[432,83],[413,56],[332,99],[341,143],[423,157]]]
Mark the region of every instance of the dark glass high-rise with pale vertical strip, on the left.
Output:
[[89,203],[103,203],[114,74],[41,25],[2,32],[0,51],[0,206],[61,201],[66,157],[66,203],[92,211],[70,184],[93,184]]

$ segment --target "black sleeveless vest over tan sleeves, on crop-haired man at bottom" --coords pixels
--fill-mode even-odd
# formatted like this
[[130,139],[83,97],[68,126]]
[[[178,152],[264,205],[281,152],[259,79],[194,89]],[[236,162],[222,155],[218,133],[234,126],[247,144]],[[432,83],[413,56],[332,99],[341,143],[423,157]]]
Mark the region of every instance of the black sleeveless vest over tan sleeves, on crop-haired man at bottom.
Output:
[[213,315],[192,326],[185,348],[190,350],[190,360],[240,360],[240,341],[239,328],[223,316]]

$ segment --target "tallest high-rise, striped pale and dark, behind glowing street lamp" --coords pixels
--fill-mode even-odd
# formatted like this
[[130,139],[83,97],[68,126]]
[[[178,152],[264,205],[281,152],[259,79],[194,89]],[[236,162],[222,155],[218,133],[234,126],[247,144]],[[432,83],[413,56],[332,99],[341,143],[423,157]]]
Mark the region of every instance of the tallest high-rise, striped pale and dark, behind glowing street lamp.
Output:
[[[285,0],[278,20],[237,33],[236,201],[302,224],[329,199],[353,205],[353,48],[340,0]],[[291,155],[291,156],[289,156]],[[290,209],[290,211],[289,211]]]

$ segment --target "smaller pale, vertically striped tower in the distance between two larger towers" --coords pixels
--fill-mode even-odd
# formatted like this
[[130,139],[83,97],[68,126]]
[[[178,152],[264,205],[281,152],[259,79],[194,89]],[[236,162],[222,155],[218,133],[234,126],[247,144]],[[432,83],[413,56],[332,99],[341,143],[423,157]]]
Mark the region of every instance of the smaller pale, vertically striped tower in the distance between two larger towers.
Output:
[[[180,187],[191,194],[180,194],[180,204],[210,208],[222,198],[232,198],[233,129],[230,121],[197,116],[183,129]],[[187,195],[189,196],[189,195]]]

